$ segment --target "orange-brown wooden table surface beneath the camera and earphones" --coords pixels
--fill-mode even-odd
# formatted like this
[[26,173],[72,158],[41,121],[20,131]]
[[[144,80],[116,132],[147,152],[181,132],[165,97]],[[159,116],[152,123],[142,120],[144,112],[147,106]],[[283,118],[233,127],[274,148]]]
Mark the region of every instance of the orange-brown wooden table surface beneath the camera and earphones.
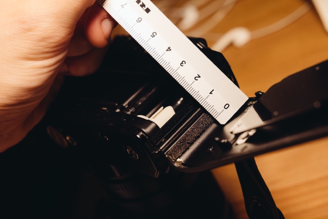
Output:
[[[163,4],[170,1],[154,2]],[[174,4],[178,7],[185,2],[179,0]],[[238,26],[258,30],[286,18],[303,4],[308,4],[310,10],[287,27],[253,39],[241,48],[229,46],[223,50],[240,89],[249,97],[254,96],[256,91],[267,91],[288,75],[328,59],[328,33],[324,31],[311,3],[304,0],[240,0],[221,22],[203,33],[211,47],[217,33],[225,33]],[[165,14],[169,12],[165,11]],[[198,26],[202,24],[200,22]],[[192,30],[185,33],[192,33]],[[327,157],[328,137],[255,158],[277,206],[286,218],[328,218]],[[234,165],[219,167],[212,172],[232,203],[237,218],[248,218]]]

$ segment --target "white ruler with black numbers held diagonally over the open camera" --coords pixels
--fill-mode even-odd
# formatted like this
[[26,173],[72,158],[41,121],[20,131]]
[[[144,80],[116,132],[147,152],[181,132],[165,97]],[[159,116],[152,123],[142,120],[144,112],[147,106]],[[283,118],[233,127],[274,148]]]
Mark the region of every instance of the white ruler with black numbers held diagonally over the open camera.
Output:
[[97,2],[220,124],[248,100],[150,0]]

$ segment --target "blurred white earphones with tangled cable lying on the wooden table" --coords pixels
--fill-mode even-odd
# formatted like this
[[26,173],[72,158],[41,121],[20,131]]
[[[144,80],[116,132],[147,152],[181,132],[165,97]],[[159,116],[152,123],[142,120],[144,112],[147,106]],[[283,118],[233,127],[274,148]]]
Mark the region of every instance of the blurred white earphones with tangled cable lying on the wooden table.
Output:
[[[260,28],[258,30],[249,31],[243,27],[232,28],[227,33],[209,33],[211,29],[213,29],[225,16],[229,13],[235,2],[238,0],[225,0],[223,4],[220,4],[220,9],[216,6],[218,5],[218,1],[210,2],[211,0],[190,0],[185,3],[179,9],[170,8],[170,4],[161,4],[161,7],[165,7],[167,10],[170,10],[173,17],[181,19],[181,21],[177,24],[177,26],[181,30],[188,30],[195,26],[198,22],[206,19],[211,16],[207,21],[200,27],[193,29],[190,32],[186,32],[185,34],[193,37],[204,37],[207,40],[216,42],[211,46],[213,50],[223,51],[226,46],[229,44],[234,44],[237,47],[241,47],[252,39],[257,39],[260,37],[264,37],[275,33],[284,27],[295,22],[297,19],[305,15],[309,10],[310,6],[308,3],[304,3],[298,9],[296,9],[293,13],[284,17],[283,19],[275,22],[266,27]],[[161,2],[171,2],[171,1],[159,1]],[[204,7],[203,7],[204,6]],[[199,7],[203,7],[201,10],[198,10]],[[216,11],[216,12],[215,12]],[[219,38],[219,40],[217,40]]]

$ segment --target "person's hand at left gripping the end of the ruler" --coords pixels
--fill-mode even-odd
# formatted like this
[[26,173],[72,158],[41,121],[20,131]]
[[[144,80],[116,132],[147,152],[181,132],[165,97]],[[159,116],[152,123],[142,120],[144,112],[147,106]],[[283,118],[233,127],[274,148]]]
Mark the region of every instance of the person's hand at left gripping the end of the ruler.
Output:
[[95,0],[0,3],[0,152],[41,120],[63,74],[101,63],[115,22]]

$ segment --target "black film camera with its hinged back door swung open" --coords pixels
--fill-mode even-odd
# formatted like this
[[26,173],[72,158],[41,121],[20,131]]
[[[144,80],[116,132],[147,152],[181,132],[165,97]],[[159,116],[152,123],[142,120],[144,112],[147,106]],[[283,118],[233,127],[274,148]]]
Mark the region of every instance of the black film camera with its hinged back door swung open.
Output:
[[[237,85],[221,53],[203,39],[191,40]],[[48,133],[62,147],[87,154],[91,163],[94,156],[103,168],[152,177],[172,168],[201,172],[326,134],[326,65],[256,93],[231,122],[220,125],[132,38],[118,37],[95,75],[67,80],[60,103],[48,114]],[[254,104],[263,122],[232,133],[234,120]],[[162,124],[148,119],[168,106],[174,112],[159,115]]]

